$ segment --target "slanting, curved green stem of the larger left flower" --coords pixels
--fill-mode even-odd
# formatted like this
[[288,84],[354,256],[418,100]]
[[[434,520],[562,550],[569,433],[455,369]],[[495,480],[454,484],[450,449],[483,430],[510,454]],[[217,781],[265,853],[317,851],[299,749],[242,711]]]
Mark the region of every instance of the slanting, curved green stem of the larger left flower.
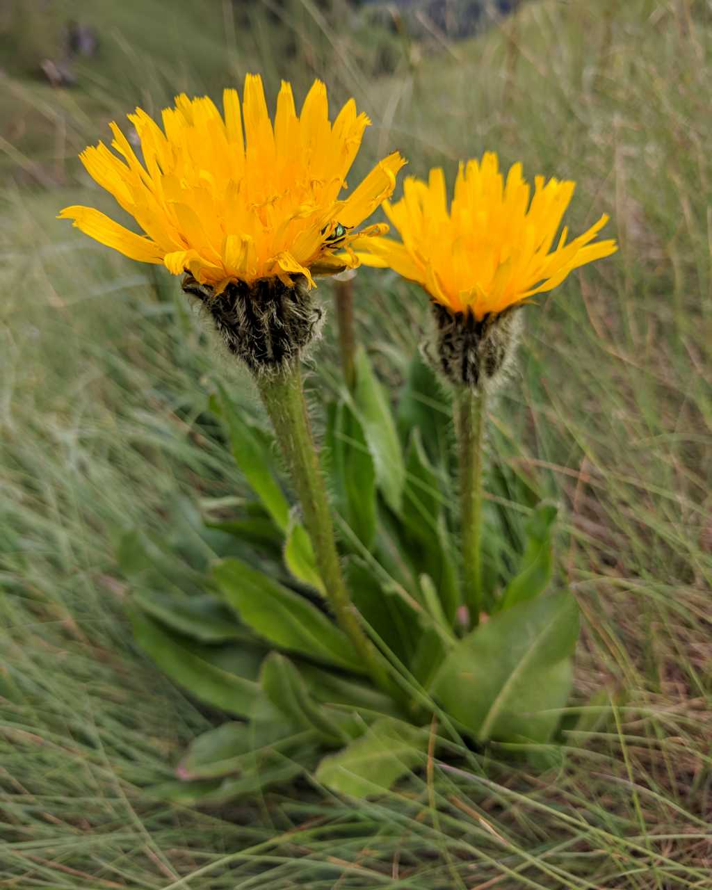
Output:
[[259,377],[257,385],[287,460],[296,494],[302,505],[304,522],[312,538],[317,567],[328,601],[336,613],[336,620],[351,638],[374,682],[385,691],[390,691],[390,684],[376,649],[360,626],[359,614],[344,583],[336,552],[327,489],[304,401],[299,359],[287,365],[279,376]]

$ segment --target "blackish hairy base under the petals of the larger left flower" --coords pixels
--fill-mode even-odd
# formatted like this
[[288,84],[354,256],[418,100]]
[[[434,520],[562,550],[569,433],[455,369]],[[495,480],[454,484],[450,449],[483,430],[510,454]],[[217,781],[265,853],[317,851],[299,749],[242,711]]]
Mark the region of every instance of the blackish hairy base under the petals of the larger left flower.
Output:
[[303,276],[231,282],[222,293],[190,274],[182,289],[203,303],[230,352],[255,375],[277,375],[319,336],[323,312]]

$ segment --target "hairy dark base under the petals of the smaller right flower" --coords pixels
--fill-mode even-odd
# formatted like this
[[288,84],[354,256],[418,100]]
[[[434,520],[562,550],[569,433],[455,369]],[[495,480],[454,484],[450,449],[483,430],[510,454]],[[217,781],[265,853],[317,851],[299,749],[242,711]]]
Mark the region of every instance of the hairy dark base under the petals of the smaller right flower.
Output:
[[475,319],[431,303],[434,335],[424,352],[451,384],[481,389],[496,384],[514,356],[521,319],[518,307]]

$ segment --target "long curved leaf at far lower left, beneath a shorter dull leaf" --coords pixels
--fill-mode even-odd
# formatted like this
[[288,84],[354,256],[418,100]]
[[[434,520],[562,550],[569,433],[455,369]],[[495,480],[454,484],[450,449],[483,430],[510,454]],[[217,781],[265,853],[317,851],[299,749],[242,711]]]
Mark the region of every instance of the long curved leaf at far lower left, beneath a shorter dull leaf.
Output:
[[[248,674],[238,676],[211,663],[211,656],[217,647],[180,640],[140,609],[132,608],[129,618],[136,643],[174,683],[206,704],[231,714],[248,716],[255,708],[256,701],[262,695],[255,682],[259,667],[256,654],[250,661],[245,651],[244,667]],[[247,647],[240,644],[240,649],[244,651]]]

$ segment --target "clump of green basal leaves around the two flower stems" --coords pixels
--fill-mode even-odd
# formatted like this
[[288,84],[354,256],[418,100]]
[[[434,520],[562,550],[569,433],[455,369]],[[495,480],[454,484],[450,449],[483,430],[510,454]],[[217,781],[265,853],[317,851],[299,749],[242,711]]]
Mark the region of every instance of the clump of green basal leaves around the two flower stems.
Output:
[[231,717],[191,744],[162,796],[222,803],[305,773],[381,794],[425,765],[433,715],[450,755],[491,742],[539,762],[555,747],[578,636],[575,600],[548,589],[556,508],[500,460],[488,488],[528,519],[491,506],[485,608],[467,629],[447,388],[415,359],[392,411],[362,349],[356,369],[327,406],[324,450],[344,575],[391,694],[333,620],[272,433],[220,387],[211,407],[254,499],[227,517],[218,504],[219,519],[180,501],[171,540],[134,530],[119,547],[142,650]]

